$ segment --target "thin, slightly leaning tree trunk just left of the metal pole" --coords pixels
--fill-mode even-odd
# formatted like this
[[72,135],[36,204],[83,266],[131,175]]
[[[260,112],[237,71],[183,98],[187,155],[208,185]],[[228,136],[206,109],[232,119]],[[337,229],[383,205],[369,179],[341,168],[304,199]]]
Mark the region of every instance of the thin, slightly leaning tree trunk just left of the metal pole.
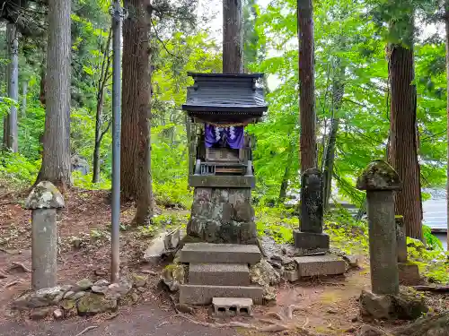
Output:
[[101,120],[102,111],[103,111],[103,102],[104,102],[104,87],[108,79],[110,78],[110,38],[111,31],[108,36],[108,41],[106,42],[106,46],[104,47],[103,60],[101,62],[101,73],[100,79],[98,81],[97,88],[97,110],[95,114],[95,142],[93,144],[93,158],[92,158],[92,183],[97,183],[100,180],[100,147],[101,140],[109,131],[110,123],[105,131],[101,131],[101,126],[103,122]]

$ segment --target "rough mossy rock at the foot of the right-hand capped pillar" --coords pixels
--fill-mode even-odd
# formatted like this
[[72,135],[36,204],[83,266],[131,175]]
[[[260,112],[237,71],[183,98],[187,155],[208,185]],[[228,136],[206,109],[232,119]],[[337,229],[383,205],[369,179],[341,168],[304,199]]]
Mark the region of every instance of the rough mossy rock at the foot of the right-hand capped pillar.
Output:
[[428,312],[422,297],[404,291],[392,296],[375,295],[371,291],[363,290],[360,303],[362,314],[375,319],[416,320]]

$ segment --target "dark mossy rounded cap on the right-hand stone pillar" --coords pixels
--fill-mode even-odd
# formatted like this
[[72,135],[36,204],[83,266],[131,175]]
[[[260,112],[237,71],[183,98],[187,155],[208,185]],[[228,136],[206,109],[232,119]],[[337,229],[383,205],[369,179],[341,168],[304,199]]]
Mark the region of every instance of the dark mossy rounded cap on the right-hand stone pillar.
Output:
[[382,159],[371,162],[357,179],[358,190],[401,190],[398,173]]

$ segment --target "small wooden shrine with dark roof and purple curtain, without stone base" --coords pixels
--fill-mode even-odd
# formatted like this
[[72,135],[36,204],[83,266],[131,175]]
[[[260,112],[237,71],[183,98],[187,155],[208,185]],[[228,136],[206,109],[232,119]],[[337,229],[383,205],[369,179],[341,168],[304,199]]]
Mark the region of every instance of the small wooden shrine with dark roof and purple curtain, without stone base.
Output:
[[251,136],[244,127],[260,120],[268,105],[257,85],[261,73],[189,73],[182,109],[193,123],[189,185],[254,187]]

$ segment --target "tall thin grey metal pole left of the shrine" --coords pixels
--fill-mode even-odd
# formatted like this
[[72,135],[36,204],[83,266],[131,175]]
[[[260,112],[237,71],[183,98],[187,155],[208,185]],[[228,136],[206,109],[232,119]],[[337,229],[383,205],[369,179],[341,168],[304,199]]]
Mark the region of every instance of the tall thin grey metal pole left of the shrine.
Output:
[[120,271],[120,134],[121,83],[120,49],[123,10],[116,0],[112,8],[112,225],[110,233],[110,282],[119,282]]

